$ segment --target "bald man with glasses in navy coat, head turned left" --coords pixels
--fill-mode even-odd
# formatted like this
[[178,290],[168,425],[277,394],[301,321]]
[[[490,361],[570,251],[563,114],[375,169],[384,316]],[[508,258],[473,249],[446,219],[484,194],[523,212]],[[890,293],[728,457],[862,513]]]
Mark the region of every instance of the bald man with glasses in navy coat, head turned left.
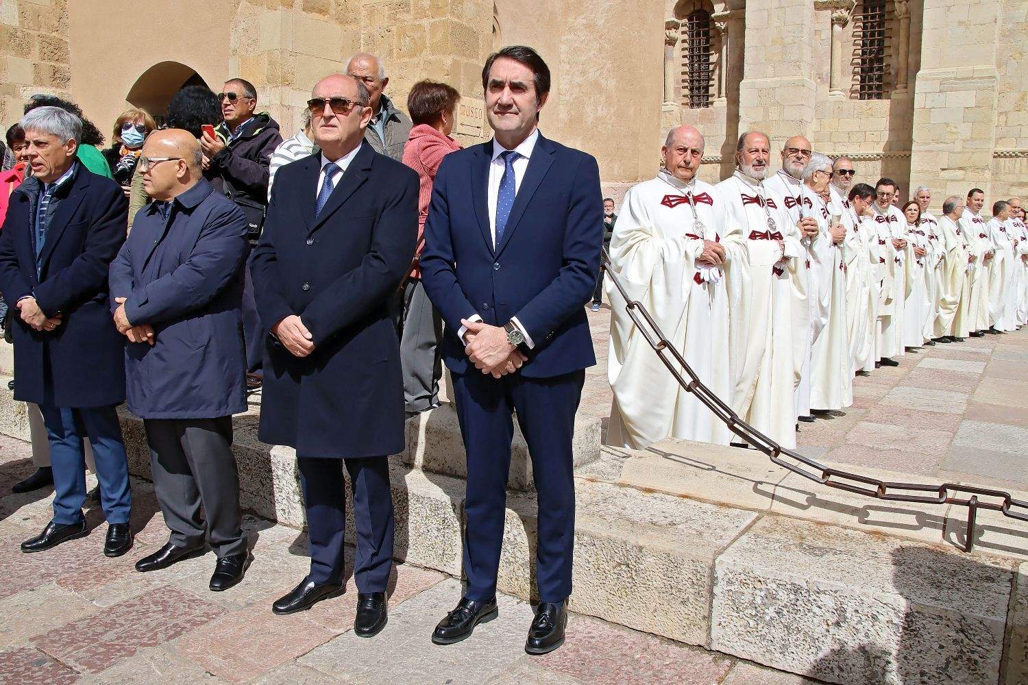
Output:
[[[218,556],[210,588],[243,579],[249,555],[232,455],[232,414],[247,410],[242,334],[246,215],[204,180],[189,131],[154,131],[139,160],[153,201],[111,264],[125,347],[128,410],[143,419],[168,543],[136,563],[156,571]],[[200,506],[207,515],[200,513]]]

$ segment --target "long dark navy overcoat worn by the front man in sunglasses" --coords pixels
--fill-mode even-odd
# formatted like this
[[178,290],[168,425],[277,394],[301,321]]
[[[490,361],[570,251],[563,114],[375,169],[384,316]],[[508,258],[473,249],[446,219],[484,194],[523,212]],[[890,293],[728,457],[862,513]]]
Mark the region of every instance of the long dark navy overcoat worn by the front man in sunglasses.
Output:
[[400,346],[390,302],[417,240],[417,175],[361,145],[315,218],[321,155],[279,169],[251,273],[266,329],[297,314],[315,351],[266,336],[260,439],[300,457],[404,447]]

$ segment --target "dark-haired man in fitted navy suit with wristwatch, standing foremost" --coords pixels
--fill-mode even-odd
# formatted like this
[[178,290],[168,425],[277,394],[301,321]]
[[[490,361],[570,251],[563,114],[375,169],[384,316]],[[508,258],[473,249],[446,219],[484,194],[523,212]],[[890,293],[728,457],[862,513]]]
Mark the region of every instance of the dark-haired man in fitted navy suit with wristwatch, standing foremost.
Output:
[[572,435],[585,369],[596,363],[584,306],[599,268],[602,194],[593,157],[539,132],[550,72],[535,50],[490,55],[482,87],[494,138],[443,160],[421,256],[425,290],[446,322],[468,459],[468,586],[432,640],[464,640],[497,616],[516,412],[539,493],[541,602],[525,651],[545,654],[563,644],[572,592]]

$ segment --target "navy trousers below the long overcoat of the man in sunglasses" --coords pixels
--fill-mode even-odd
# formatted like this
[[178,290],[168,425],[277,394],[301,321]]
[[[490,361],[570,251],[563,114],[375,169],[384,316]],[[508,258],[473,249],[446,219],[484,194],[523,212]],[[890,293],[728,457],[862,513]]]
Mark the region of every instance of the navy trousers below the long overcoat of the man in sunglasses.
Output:
[[310,574],[317,583],[342,582],[346,528],[345,462],[353,484],[359,593],[384,593],[393,570],[393,491],[386,457],[323,459],[298,457],[300,487],[307,510]]

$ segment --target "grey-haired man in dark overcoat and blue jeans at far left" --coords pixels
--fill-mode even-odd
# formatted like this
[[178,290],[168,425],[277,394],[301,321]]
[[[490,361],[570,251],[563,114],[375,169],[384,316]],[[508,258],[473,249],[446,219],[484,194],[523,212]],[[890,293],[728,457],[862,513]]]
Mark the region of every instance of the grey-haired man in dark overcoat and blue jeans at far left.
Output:
[[53,466],[53,519],[22,543],[40,551],[88,534],[88,437],[107,517],[104,554],[133,544],[128,462],[115,407],[125,398],[124,339],[108,310],[107,269],[124,242],[121,188],[75,158],[82,120],[40,107],[21,121],[32,177],[10,197],[0,234],[0,292],[19,312],[14,398],[39,405]]

